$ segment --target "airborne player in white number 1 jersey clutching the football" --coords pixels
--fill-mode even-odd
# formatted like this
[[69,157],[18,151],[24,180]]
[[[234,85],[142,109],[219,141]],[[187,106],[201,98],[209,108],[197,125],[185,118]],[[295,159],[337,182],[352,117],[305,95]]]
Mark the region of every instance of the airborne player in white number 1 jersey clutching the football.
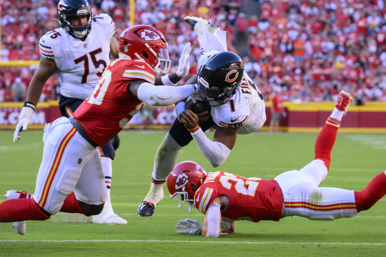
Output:
[[[227,51],[226,32],[202,18],[185,17],[185,21],[197,32],[203,50],[198,75],[187,83],[196,81],[200,87],[196,98],[211,106],[210,116],[208,111],[193,113],[192,103],[176,104],[178,119],[157,150],[149,193],[137,208],[142,217],[150,217],[163,199],[163,185],[176,164],[178,151],[192,139],[212,166],[217,167],[229,156],[237,134],[253,133],[266,121],[264,97],[244,72],[242,59]],[[193,123],[196,126],[191,127]],[[213,141],[204,134],[211,127],[216,128]]]

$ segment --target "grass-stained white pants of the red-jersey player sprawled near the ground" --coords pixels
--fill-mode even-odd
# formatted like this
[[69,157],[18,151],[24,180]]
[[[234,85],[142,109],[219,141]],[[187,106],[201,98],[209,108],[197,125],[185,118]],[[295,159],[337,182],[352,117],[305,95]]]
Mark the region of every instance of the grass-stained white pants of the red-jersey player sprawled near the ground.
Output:
[[284,197],[286,216],[310,220],[334,220],[358,214],[354,191],[333,187],[318,187],[327,176],[322,160],[313,160],[301,170],[281,173],[276,178]]

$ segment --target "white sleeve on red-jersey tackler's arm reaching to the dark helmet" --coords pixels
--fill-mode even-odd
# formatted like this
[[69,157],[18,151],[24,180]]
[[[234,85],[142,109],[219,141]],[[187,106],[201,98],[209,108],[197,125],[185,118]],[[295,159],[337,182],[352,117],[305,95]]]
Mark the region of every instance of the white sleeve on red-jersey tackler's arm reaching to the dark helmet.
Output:
[[148,82],[142,83],[137,91],[138,99],[152,106],[169,106],[195,93],[194,85],[154,86]]

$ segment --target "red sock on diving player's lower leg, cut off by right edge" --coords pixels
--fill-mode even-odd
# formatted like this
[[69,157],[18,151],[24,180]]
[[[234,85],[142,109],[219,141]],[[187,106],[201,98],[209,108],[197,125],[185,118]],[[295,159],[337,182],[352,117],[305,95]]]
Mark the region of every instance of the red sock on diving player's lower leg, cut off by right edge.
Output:
[[376,175],[364,190],[354,191],[357,211],[368,210],[384,195],[386,195],[386,171]]

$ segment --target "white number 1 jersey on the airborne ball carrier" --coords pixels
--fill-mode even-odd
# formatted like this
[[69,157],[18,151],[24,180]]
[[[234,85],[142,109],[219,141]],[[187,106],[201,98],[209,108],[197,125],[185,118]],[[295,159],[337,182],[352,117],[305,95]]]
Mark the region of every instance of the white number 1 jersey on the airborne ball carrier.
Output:
[[259,88],[246,72],[236,93],[229,101],[212,106],[213,121],[222,128],[237,128],[237,134],[259,130],[266,121],[265,103]]

